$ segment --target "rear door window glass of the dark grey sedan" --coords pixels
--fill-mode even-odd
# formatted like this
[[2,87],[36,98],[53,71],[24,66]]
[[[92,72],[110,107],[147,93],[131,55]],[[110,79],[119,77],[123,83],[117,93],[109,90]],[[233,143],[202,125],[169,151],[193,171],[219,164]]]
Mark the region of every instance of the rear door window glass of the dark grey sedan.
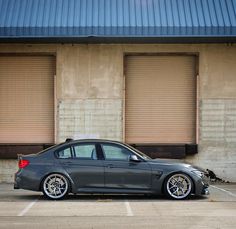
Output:
[[95,144],[81,144],[74,146],[75,158],[97,160]]

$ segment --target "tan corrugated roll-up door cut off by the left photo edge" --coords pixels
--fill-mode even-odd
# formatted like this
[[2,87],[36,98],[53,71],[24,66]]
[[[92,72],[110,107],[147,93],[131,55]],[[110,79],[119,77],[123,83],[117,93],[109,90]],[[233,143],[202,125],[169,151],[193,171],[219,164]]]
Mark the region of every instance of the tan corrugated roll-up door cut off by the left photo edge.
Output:
[[0,56],[0,143],[54,142],[53,56]]

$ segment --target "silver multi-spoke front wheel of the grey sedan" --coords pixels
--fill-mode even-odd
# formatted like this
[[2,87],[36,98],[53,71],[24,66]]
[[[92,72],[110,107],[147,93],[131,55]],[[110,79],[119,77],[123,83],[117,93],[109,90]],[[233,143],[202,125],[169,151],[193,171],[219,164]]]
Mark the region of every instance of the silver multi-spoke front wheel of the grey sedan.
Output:
[[192,181],[183,173],[174,174],[167,180],[166,190],[174,199],[185,199],[191,194]]

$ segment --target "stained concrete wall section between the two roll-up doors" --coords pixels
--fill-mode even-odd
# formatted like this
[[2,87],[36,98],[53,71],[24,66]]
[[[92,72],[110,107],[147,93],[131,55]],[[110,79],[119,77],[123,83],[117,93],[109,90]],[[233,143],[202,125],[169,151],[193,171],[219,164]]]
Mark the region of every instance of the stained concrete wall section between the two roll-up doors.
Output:
[[57,55],[58,141],[122,139],[123,57],[113,46],[67,46]]

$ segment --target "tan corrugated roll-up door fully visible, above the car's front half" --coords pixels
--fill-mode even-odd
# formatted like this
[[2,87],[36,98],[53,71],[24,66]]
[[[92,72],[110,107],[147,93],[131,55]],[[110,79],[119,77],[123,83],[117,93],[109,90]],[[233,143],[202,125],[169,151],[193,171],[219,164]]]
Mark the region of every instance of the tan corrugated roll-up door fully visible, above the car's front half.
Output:
[[194,56],[127,56],[125,140],[195,143]]

